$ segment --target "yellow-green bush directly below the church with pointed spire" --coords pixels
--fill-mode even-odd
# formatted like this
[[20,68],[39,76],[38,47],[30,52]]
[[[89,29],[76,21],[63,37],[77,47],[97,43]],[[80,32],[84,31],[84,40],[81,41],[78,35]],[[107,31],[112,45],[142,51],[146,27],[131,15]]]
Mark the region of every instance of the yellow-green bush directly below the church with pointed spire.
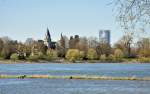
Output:
[[48,49],[47,50],[47,56],[46,56],[47,60],[55,60],[57,58],[58,58],[58,55],[57,55],[56,50],[53,50],[53,49]]

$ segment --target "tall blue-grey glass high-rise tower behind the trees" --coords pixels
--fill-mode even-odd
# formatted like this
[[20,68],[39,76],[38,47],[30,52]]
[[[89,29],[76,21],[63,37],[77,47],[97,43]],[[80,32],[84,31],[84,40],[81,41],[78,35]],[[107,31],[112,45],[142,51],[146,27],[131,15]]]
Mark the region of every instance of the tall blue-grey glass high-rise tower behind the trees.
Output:
[[110,30],[100,30],[99,31],[99,41],[101,43],[110,44]]

